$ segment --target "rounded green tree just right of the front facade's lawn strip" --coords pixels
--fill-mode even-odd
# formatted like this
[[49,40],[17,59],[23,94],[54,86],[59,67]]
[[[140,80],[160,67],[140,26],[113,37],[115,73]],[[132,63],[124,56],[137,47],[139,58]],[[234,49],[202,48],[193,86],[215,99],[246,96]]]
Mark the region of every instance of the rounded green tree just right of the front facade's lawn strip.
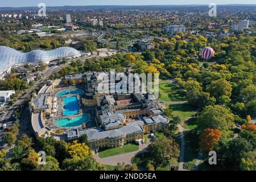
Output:
[[173,139],[160,136],[150,144],[151,156],[156,166],[167,163],[167,159],[180,155],[179,145]]

